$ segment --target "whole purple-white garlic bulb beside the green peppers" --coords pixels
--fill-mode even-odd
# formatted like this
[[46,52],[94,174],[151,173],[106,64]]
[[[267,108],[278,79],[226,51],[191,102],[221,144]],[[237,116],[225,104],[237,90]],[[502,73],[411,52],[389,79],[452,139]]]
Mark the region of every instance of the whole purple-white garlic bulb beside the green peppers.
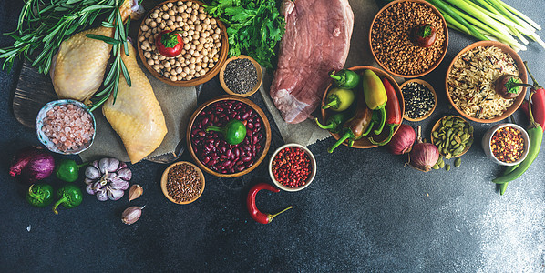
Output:
[[118,200],[129,188],[132,172],[124,162],[107,157],[89,164],[85,177],[88,194],[97,195],[99,201]]

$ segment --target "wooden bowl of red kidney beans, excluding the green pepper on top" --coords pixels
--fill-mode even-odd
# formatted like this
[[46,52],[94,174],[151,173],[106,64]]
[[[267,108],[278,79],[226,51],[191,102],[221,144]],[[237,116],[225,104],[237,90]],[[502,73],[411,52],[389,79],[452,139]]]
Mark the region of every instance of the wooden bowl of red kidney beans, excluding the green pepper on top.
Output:
[[[242,121],[246,136],[231,145],[209,126],[225,126],[232,119]],[[216,177],[241,177],[262,163],[271,146],[271,126],[262,109],[239,96],[219,96],[202,104],[191,116],[187,130],[191,157],[205,172]]]

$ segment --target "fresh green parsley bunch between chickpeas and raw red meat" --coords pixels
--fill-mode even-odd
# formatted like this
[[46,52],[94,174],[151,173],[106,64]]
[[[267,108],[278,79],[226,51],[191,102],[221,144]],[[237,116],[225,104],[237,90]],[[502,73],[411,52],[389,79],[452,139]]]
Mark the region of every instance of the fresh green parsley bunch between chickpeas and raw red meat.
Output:
[[[285,31],[276,0],[211,0],[206,11],[228,24],[229,56],[245,54],[272,68],[274,48]],[[274,58],[275,59],[275,58]]]

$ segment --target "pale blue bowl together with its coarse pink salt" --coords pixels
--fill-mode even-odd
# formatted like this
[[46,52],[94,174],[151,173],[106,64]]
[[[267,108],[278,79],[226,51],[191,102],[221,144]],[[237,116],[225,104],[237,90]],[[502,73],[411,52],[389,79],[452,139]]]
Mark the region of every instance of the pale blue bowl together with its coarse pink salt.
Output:
[[95,116],[87,106],[72,99],[47,103],[36,116],[36,134],[50,151],[77,155],[93,144]]

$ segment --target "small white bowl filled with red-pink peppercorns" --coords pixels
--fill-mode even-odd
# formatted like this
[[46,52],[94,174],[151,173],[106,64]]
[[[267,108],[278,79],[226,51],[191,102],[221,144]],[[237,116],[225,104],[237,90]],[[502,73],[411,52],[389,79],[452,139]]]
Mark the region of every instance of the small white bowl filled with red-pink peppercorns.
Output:
[[302,190],[316,176],[316,159],[307,147],[296,143],[283,145],[271,156],[269,175],[276,187],[285,191]]

